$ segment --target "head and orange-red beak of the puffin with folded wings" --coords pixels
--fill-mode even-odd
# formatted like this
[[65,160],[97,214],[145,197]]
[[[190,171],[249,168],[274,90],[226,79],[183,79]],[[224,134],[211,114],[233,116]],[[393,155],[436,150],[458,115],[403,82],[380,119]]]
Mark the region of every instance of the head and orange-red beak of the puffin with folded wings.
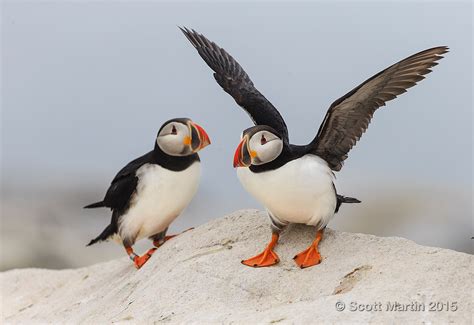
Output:
[[189,156],[209,145],[206,131],[188,118],[174,118],[158,131],[156,144],[167,155]]

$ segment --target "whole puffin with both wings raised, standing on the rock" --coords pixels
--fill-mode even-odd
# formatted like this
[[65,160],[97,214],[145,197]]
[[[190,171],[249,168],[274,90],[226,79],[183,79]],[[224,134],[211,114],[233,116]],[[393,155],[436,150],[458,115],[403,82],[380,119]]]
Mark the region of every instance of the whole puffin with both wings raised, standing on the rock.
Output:
[[265,250],[242,261],[253,267],[274,265],[279,234],[289,223],[316,226],[316,238],[294,259],[301,268],[319,264],[318,244],[329,220],[342,203],[360,201],[337,194],[334,171],[344,160],[374,112],[431,72],[446,46],[434,47],[395,63],[336,100],[316,137],[307,145],[289,143],[288,129],[277,109],[254,87],[240,64],[223,48],[194,30],[180,28],[214,71],[217,83],[252,118],[256,126],[242,133],[234,167],[244,188],[261,202],[272,223]]

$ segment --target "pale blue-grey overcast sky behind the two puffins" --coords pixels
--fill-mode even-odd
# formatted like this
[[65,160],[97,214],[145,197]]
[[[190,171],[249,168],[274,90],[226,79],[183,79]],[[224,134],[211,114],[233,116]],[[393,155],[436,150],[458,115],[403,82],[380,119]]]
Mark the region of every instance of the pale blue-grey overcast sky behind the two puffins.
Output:
[[309,142],[329,105],[365,79],[418,51],[449,46],[427,79],[376,112],[338,174],[338,190],[357,197],[392,182],[472,198],[469,1],[4,1],[2,7],[8,186],[87,185],[102,196],[121,167],[153,148],[164,121],[187,116],[212,140],[201,153],[197,199],[216,200],[213,216],[258,207],[232,168],[251,121],[216,84],[180,25],[240,62],[280,110],[296,144]]

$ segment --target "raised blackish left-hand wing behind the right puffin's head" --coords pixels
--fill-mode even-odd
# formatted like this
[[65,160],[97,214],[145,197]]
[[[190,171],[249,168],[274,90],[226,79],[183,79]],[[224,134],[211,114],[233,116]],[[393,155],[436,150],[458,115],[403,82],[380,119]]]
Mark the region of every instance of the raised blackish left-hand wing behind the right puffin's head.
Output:
[[186,27],[181,28],[199,55],[214,71],[217,83],[252,118],[255,125],[268,125],[288,140],[288,129],[277,109],[253,85],[240,64],[216,43]]

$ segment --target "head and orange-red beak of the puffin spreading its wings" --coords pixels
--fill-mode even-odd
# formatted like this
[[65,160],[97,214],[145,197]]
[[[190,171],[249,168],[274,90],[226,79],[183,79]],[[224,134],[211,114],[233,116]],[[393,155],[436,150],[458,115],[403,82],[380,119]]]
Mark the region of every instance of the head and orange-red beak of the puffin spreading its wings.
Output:
[[257,125],[242,133],[234,154],[234,167],[250,167],[269,163],[283,150],[282,137],[273,128]]

